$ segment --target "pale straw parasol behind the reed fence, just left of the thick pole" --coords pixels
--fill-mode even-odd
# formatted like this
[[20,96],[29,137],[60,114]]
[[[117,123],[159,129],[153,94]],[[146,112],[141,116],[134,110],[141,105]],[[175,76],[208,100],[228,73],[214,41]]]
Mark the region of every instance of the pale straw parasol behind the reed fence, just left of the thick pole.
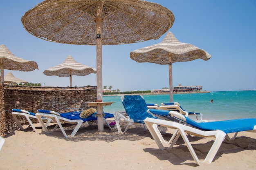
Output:
[[70,87],[72,87],[72,75],[85,76],[90,73],[96,73],[96,68],[76,62],[74,58],[69,55],[62,64],[48,68],[43,73],[48,76],[70,77]]

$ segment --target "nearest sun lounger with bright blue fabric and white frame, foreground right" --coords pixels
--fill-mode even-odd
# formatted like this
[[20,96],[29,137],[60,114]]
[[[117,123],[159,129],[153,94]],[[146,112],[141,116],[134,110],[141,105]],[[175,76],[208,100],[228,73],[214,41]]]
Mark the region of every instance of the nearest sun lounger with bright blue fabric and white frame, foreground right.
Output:
[[[153,110],[155,109],[150,109],[150,111]],[[166,112],[169,111],[166,110]],[[164,146],[166,144],[169,144],[168,148],[173,148],[177,139],[180,136],[182,136],[182,139],[184,140],[187,148],[189,149],[189,152],[191,153],[193,159],[195,160],[195,163],[197,163],[198,165],[200,165],[200,163],[211,163],[224,139],[235,139],[237,133],[240,131],[256,132],[256,119],[253,118],[198,123],[190,119],[189,117],[185,117],[184,115],[181,115],[177,112],[170,111],[169,114],[171,115],[171,117],[182,121],[182,123],[166,121],[161,119],[146,118],[144,122],[150,134],[153,136],[154,140],[156,141],[158,147],[161,150],[166,149],[166,146]],[[169,141],[166,142],[164,140],[160,131],[157,128],[158,126],[175,129],[175,133],[171,136],[171,139]],[[230,138],[227,135],[229,133],[235,133],[234,137]],[[200,137],[216,138],[213,145],[211,146],[211,149],[209,150],[207,156],[203,161],[200,161],[198,159],[195,150],[193,149],[188,137],[186,136],[188,134]]]

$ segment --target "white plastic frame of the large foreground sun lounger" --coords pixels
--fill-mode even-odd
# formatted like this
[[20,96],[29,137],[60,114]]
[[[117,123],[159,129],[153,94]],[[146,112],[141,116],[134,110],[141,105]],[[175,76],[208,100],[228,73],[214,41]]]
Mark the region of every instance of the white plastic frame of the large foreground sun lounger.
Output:
[[[226,133],[221,130],[211,130],[211,131],[203,131],[199,130],[184,124],[180,124],[173,121],[165,121],[161,119],[152,119],[152,118],[146,118],[144,120],[150,134],[153,136],[155,142],[157,143],[157,146],[164,150],[166,149],[164,147],[164,144],[170,144],[168,148],[173,148],[174,144],[176,143],[177,139],[182,136],[182,139],[184,140],[187,148],[189,149],[189,152],[191,153],[193,159],[195,160],[195,163],[200,165],[200,163],[211,163],[213,161],[213,158],[215,157],[216,153],[218,152],[222,141],[226,137]],[[166,142],[164,138],[162,137],[161,133],[159,132],[157,126],[164,126],[167,128],[176,129],[175,133],[171,137],[171,139]],[[256,132],[256,126],[254,126],[254,130],[250,132]],[[201,136],[201,137],[215,137],[216,140],[214,141],[213,145],[211,146],[211,149],[209,150],[207,156],[203,161],[200,161],[198,159],[198,156],[195,153],[195,150],[190,144],[190,141],[187,137],[187,134],[195,135],[195,136]]]

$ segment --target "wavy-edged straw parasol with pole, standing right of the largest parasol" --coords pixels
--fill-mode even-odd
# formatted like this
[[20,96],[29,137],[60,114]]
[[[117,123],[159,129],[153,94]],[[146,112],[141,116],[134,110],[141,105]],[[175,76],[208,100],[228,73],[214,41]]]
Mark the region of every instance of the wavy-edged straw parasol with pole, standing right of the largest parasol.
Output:
[[132,51],[130,58],[136,62],[169,65],[170,102],[173,102],[172,63],[188,62],[198,58],[209,60],[211,55],[197,46],[179,42],[173,33],[168,32],[162,42]]

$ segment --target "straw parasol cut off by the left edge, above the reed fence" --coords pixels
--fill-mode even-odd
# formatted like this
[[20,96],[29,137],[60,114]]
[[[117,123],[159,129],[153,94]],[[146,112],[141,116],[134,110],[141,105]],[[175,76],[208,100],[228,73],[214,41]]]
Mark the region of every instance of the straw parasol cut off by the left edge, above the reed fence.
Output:
[[16,57],[4,44],[0,45],[0,67],[1,82],[4,82],[4,69],[19,71],[33,71],[36,68],[38,69],[36,62]]

